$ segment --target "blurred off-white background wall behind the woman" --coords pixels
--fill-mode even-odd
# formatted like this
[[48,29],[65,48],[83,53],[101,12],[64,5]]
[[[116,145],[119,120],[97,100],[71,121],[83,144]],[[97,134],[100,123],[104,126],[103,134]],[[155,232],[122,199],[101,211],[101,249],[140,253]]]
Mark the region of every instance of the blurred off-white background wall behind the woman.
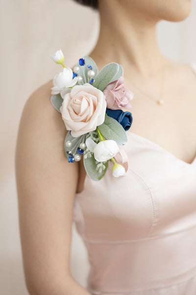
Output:
[[[92,51],[98,38],[99,14],[72,0],[4,0],[0,6],[0,294],[27,295],[14,172],[20,117],[29,95],[59,70],[49,58],[53,52],[61,48],[66,65],[72,68]],[[186,20],[158,24],[161,52],[175,61],[196,61],[195,29],[193,0]],[[74,225],[71,271],[85,287],[87,252]]]

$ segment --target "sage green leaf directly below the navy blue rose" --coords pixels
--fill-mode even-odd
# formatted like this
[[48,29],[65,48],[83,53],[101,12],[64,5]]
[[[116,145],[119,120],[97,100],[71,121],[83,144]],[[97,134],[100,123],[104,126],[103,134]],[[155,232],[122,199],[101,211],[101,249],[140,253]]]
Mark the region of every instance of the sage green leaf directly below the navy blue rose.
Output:
[[119,146],[127,143],[128,138],[123,126],[114,118],[106,115],[103,124],[99,125],[98,129],[106,139],[114,140]]

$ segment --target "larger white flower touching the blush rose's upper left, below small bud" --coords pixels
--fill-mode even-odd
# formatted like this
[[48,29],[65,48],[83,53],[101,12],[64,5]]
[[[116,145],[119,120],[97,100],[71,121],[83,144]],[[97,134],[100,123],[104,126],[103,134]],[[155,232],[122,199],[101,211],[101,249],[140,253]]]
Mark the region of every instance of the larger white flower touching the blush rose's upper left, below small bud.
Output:
[[70,92],[72,89],[66,89],[72,87],[77,83],[77,77],[73,78],[73,71],[71,68],[64,68],[62,71],[58,72],[53,78],[54,87],[51,88],[51,94],[61,93],[63,96]]

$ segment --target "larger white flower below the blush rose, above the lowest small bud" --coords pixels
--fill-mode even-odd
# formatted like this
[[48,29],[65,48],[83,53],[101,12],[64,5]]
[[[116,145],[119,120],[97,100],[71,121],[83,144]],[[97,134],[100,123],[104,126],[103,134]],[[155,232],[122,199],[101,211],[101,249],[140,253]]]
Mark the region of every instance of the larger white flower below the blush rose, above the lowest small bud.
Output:
[[94,157],[98,162],[107,161],[113,158],[119,147],[114,140],[104,140],[96,144],[90,137],[86,140],[87,148],[94,152]]

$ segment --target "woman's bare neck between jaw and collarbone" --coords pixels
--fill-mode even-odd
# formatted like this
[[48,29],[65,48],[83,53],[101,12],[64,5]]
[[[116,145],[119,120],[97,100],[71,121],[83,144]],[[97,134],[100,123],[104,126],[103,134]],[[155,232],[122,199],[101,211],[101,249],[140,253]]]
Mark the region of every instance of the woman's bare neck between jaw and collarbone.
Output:
[[164,57],[156,40],[157,20],[145,12],[126,9],[117,0],[99,1],[100,31],[90,56],[105,65],[122,64],[124,76],[155,77],[162,70]]

